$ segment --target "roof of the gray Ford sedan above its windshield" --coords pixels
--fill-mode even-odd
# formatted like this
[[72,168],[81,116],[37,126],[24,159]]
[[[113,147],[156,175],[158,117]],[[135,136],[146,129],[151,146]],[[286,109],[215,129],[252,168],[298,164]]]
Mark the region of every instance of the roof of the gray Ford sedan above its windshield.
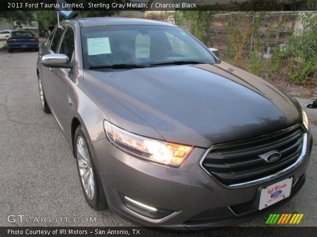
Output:
[[173,26],[172,24],[145,20],[137,18],[123,18],[123,17],[91,17],[91,18],[76,18],[70,20],[71,22],[79,22],[81,27],[91,27],[91,26],[113,26],[113,25],[153,25],[153,26]]

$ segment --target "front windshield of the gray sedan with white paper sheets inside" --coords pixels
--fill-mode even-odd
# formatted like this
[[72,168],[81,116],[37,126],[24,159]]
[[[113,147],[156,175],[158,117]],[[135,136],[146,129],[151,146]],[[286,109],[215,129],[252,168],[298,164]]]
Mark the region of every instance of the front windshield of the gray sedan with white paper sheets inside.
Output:
[[165,65],[179,61],[215,63],[203,45],[177,27],[97,26],[83,28],[81,33],[85,68]]

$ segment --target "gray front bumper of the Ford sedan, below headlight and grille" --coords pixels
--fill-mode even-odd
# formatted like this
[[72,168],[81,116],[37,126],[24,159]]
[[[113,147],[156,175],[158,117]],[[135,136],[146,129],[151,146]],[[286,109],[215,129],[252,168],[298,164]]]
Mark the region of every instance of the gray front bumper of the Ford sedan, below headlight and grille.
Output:
[[[139,226],[186,231],[236,225],[287,202],[305,182],[312,135],[308,133],[305,159],[298,167],[264,183],[239,188],[219,184],[200,167],[206,149],[195,148],[186,162],[173,168],[127,155],[110,145],[106,138],[94,142],[93,146],[107,202],[115,213]],[[261,211],[253,207],[260,186],[291,176],[290,197]],[[124,205],[124,196],[166,210],[168,214],[155,219],[137,213]]]

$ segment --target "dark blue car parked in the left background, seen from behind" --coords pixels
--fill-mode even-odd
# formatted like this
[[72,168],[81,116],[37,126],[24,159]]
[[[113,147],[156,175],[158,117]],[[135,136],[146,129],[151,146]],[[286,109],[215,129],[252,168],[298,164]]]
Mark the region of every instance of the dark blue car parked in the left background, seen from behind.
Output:
[[9,53],[14,48],[31,48],[39,51],[39,39],[30,31],[13,31],[6,39]]

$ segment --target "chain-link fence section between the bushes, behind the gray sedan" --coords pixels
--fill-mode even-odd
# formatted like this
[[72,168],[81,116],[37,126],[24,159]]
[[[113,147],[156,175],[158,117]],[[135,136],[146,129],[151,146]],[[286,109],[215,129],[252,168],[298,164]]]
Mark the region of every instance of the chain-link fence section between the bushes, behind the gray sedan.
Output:
[[282,50],[289,43],[290,36],[303,32],[301,16],[308,13],[232,12],[211,15],[208,28],[210,40],[206,43],[218,48],[222,58],[250,62],[254,49],[264,58],[270,58],[272,48]]

